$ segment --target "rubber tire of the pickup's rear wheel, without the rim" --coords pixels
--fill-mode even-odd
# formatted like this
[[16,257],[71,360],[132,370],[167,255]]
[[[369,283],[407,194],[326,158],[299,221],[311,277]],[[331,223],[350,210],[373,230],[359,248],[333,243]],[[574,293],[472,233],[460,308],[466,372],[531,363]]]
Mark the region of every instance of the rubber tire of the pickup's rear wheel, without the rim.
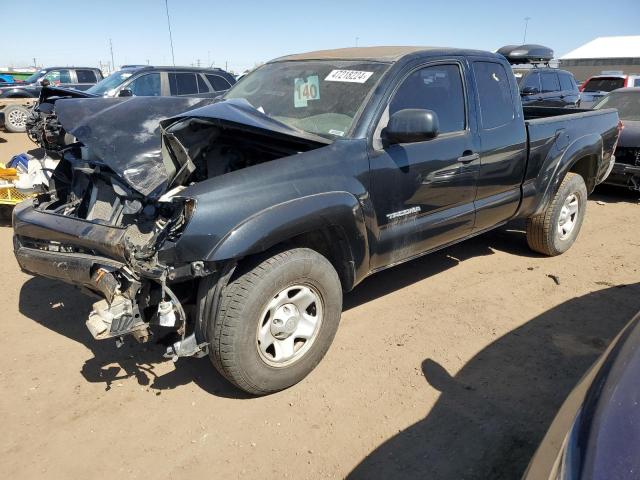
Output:
[[[559,231],[558,222],[565,201],[571,196],[577,197],[578,211],[572,230],[563,235]],[[560,184],[558,192],[547,208],[539,215],[527,220],[527,243],[532,250],[544,255],[556,256],[571,248],[580,233],[582,222],[587,211],[587,187],[584,179],[577,173],[567,173]]]

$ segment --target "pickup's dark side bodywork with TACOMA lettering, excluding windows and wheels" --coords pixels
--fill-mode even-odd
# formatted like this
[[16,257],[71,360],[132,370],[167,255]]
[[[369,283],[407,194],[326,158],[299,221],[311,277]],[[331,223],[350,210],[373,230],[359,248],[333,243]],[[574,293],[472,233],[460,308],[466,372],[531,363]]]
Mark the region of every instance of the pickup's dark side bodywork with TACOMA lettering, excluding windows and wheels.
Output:
[[[541,211],[564,174],[585,155],[594,156],[591,181],[599,182],[617,137],[615,111],[523,112],[509,74],[513,119],[483,130],[473,61],[498,63],[511,72],[503,57],[490,53],[431,49],[407,54],[375,86],[351,135],[187,187],[180,196],[195,200],[195,213],[181,236],[165,243],[162,258],[175,265],[235,262],[298,235],[331,228],[348,246],[345,263],[352,271],[343,287],[349,290],[376,270]],[[376,126],[394,89],[408,72],[434,63],[456,63],[462,69],[466,129],[423,142],[378,145]],[[63,102],[72,101],[95,100]],[[538,116],[545,118],[527,120]],[[20,210],[16,234],[37,236],[46,230],[49,236],[59,226],[52,219],[45,228],[38,217],[40,226],[33,230],[29,221]]]

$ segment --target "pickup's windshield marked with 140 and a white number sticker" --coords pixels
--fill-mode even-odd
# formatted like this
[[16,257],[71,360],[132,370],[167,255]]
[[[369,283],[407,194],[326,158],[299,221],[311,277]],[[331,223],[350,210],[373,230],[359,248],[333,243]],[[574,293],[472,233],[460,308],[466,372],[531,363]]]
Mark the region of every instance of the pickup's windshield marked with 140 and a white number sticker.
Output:
[[298,61],[263,65],[224,99],[243,98],[265,115],[326,138],[345,136],[388,64]]

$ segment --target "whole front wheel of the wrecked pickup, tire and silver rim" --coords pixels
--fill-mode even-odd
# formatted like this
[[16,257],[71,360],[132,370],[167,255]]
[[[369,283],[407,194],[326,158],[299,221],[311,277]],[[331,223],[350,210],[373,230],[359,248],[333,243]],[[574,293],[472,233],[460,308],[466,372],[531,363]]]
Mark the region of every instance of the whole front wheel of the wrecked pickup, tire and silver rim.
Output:
[[240,272],[219,303],[207,322],[211,360],[240,389],[264,395],[298,383],[324,357],[342,289],[325,257],[295,248]]

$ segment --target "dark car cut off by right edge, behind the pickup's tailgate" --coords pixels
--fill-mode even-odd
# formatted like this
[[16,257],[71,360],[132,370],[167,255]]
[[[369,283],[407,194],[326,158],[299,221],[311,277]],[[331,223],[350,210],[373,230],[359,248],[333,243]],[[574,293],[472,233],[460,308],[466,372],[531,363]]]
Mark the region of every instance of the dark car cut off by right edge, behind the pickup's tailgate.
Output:
[[615,151],[616,163],[605,183],[640,192],[640,88],[614,90],[594,107],[601,108],[617,108],[624,125]]

